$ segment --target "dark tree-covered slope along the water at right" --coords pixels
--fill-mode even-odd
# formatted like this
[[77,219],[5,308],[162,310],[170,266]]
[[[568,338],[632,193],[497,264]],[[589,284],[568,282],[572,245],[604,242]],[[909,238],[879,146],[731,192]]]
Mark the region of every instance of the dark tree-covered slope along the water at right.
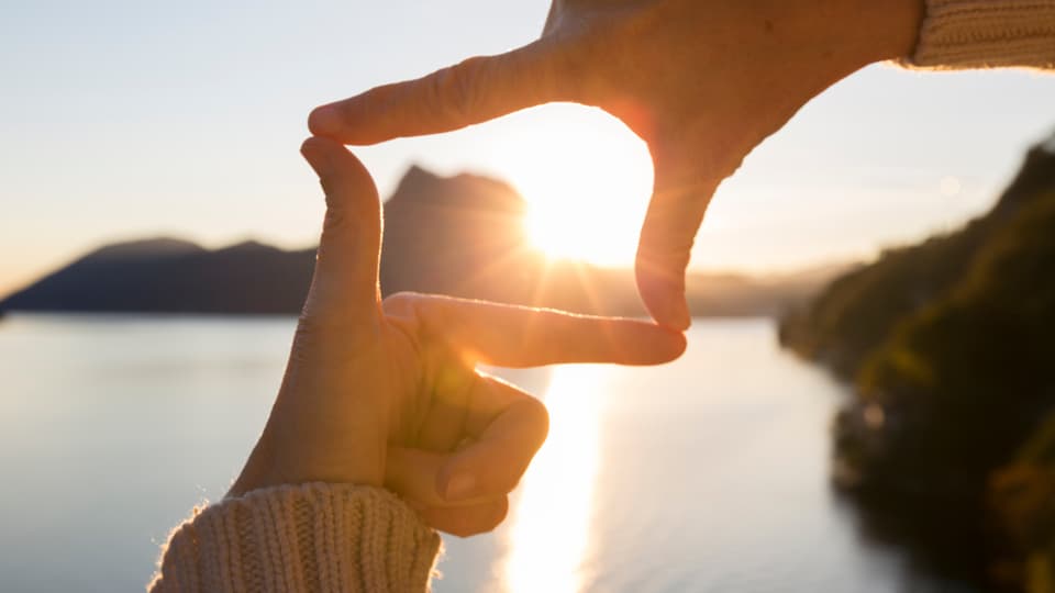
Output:
[[834,425],[839,483],[987,590],[1040,586],[1055,455],[1020,451],[1055,450],[1055,137],[988,213],[835,279],[780,338],[854,387]]

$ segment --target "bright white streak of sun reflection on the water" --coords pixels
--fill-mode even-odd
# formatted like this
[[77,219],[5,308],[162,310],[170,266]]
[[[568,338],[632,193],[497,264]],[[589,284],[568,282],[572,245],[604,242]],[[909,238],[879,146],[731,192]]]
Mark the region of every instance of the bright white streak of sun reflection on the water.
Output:
[[524,477],[501,579],[510,593],[571,593],[588,583],[599,463],[603,367],[555,369],[545,402],[549,436]]

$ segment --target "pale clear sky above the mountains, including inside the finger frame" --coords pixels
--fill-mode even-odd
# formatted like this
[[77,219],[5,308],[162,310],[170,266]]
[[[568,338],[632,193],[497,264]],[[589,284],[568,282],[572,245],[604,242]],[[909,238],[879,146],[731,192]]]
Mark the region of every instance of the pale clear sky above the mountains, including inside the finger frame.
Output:
[[[311,108],[522,45],[547,10],[0,0],[0,293],[115,239],[312,245],[323,204],[298,154]],[[1053,131],[1055,76],[870,66],[723,183],[692,266],[791,270],[953,228],[989,208]],[[411,164],[495,176],[528,200],[540,240],[632,262],[647,150],[598,110],[545,105],[354,150],[382,197]]]

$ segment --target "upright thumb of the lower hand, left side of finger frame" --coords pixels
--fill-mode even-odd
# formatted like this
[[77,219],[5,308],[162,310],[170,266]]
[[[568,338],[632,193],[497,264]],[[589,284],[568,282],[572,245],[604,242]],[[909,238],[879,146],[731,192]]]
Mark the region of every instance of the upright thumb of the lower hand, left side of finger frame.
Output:
[[304,315],[327,321],[376,317],[380,200],[369,172],[344,146],[311,137],[301,154],[319,175],[326,216]]

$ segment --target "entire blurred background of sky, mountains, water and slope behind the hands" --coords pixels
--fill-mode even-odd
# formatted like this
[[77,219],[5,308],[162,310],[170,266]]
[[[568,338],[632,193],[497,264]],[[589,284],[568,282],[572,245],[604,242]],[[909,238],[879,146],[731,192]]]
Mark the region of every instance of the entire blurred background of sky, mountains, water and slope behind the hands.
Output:
[[[0,583],[141,588],[281,378],[316,104],[535,38],[545,1],[2,1]],[[549,440],[443,591],[1052,591],[1055,78],[877,65],[720,188],[657,368],[508,371]],[[355,148],[381,283],[643,313],[652,169],[555,104]]]

